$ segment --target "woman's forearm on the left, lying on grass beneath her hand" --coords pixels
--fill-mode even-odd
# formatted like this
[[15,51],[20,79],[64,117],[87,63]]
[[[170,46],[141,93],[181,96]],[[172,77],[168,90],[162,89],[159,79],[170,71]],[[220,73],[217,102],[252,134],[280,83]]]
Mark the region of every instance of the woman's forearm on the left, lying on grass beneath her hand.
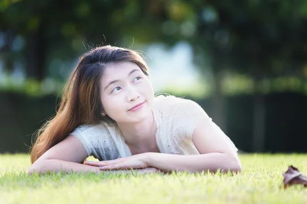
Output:
[[[38,174],[44,174],[50,172],[76,172],[76,173],[89,173],[89,172],[95,172],[97,174],[101,173],[102,171],[99,169],[99,167],[89,166],[85,164],[78,164],[74,162],[67,162],[67,161],[61,161],[61,160],[41,160],[37,161],[37,163],[34,163],[28,170],[28,174],[32,175],[34,172]],[[135,169],[134,172],[138,173],[149,173],[149,172],[157,172],[154,168],[147,168],[147,169]],[[131,170],[112,170],[112,171],[104,171],[104,172],[110,172],[110,173],[132,173]]]

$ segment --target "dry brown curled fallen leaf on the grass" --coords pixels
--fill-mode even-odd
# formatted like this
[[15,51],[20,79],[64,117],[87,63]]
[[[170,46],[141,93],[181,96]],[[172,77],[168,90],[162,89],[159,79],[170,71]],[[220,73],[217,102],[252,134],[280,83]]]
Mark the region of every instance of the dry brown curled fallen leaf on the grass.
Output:
[[283,187],[285,189],[295,184],[302,184],[304,187],[307,187],[307,177],[302,175],[302,173],[294,166],[289,166],[289,169],[282,175],[284,176]]

